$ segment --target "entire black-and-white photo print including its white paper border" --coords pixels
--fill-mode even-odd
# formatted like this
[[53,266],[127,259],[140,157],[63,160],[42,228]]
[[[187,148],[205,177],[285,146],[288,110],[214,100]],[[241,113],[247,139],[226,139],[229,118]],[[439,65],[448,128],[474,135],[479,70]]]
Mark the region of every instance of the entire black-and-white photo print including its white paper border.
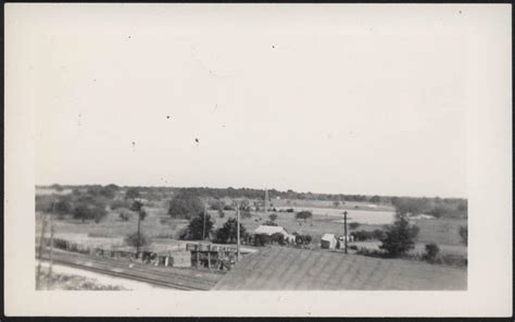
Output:
[[17,3],[5,28],[14,293],[511,293],[511,7]]

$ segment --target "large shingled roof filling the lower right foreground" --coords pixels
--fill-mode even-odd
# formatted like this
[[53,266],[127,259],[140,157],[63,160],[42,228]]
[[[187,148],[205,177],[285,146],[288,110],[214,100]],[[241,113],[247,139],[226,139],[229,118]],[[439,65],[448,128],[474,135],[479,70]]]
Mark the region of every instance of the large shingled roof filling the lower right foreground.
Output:
[[214,289],[466,289],[466,270],[429,263],[267,247],[243,257]]

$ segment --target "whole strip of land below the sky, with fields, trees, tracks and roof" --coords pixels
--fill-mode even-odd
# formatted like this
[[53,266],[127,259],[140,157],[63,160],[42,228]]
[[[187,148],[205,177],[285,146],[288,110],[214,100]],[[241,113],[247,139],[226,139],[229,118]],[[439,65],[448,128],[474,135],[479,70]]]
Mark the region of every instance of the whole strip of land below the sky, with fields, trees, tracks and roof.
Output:
[[467,288],[460,198],[55,184],[35,242],[38,289]]

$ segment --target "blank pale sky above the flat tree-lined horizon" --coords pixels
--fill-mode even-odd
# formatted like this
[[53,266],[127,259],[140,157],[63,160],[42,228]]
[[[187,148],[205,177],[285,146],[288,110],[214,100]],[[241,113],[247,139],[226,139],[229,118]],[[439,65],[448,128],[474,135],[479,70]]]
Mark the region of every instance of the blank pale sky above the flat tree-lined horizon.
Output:
[[452,7],[115,8],[27,32],[37,184],[466,197]]

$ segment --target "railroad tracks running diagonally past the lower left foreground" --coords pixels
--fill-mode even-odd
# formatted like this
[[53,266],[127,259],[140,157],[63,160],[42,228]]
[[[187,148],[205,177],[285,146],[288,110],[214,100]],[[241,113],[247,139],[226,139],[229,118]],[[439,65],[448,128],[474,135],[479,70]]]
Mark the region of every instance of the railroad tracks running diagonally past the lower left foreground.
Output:
[[[49,260],[49,257],[45,253],[41,259]],[[53,262],[63,265],[181,290],[209,290],[213,288],[224,275],[196,271],[178,273],[177,271],[169,270],[166,272],[156,270],[156,268],[153,267],[128,261],[116,261],[108,258],[95,258],[64,252],[53,253],[52,259]],[[129,267],[128,264],[133,265]],[[196,274],[197,276],[189,276],[188,274]]]

